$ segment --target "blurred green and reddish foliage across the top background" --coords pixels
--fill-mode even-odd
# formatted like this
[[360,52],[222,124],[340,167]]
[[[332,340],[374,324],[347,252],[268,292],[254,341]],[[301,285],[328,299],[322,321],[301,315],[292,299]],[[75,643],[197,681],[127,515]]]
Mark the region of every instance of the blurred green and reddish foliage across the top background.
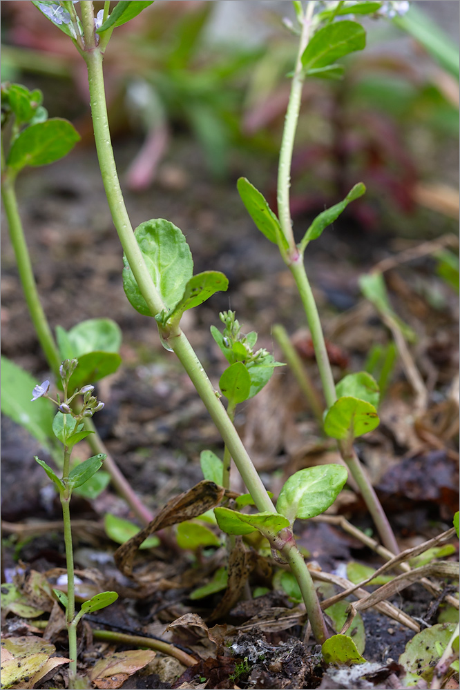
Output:
[[[217,182],[233,184],[242,161],[257,157],[276,208],[286,75],[296,51],[278,10],[289,14],[291,3],[244,3],[238,19],[242,4],[157,0],[113,34],[105,59],[109,117],[115,141],[139,142],[125,173],[131,190],[155,184],[171,141],[185,136],[198,142]],[[393,22],[366,19],[367,48],[347,59],[345,79],[305,84],[294,215],[317,213],[363,180],[369,193],[349,211],[360,226],[374,228],[384,215],[398,233],[417,236],[420,208],[428,208],[424,236],[454,229],[458,47],[423,13],[425,4],[412,2]],[[457,3],[437,4],[459,12]],[[3,3],[2,14],[2,81],[44,90],[50,115],[73,120],[91,143],[85,68],[73,45],[32,3]]]

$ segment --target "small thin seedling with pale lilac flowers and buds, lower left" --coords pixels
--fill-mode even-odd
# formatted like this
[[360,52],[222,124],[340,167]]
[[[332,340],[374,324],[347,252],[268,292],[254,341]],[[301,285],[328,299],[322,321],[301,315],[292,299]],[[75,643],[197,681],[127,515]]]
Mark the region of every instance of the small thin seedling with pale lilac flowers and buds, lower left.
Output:
[[[75,444],[88,437],[92,431],[84,428],[83,420],[93,417],[96,412],[104,408],[104,403],[99,402],[93,395],[94,386],[86,385],[76,388],[70,395],[68,393],[69,383],[78,366],[77,359],[65,359],[59,366],[59,376],[61,379],[63,395],[57,393],[57,399],[48,394],[50,382],[44,381],[35,386],[32,392],[32,402],[39,398],[46,398],[57,406],[57,414],[52,423],[52,430],[63,446],[63,469],[62,476],[58,477],[55,471],[44,460],[35,456],[35,460],[44,469],[49,479],[55,484],[59,491],[59,498],[62,506],[62,517],[64,520],[64,542],[66,544],[66,563],[67,563],[67,594],[59,589],[54,589],[54,593],[66,609],[66,625],[68,633],[68,648],[70,663],[68,669],[69,687],[75,688],[77,682],[77,625],[85,613],[104,609],[112,604],[118,595],[116,592],[102,592],[96,594],[90,600],[84,602],[78,612],[75,611],[75,577],[73,566],[73,544],[72,544],[72,524],[70,522],[70,499],[73,491],[79,486],[83,486],[93,475],[102,467],[106,455],[99,453],[89,457],[88,460],[75,466],[71,466],[70,457]],[[72,403],[77,396],[83,396],[83,404],[78,412],[73,411]]]

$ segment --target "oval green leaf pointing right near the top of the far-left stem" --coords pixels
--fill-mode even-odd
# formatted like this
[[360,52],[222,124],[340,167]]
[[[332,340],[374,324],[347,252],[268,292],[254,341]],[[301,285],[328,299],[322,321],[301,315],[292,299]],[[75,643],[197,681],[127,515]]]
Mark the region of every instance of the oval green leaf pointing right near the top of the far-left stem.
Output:
[[6,164],[15,172],[25,166],[46,166],[66,156],[79,139],[73,124],[60,117],[37,122],[13,141]]

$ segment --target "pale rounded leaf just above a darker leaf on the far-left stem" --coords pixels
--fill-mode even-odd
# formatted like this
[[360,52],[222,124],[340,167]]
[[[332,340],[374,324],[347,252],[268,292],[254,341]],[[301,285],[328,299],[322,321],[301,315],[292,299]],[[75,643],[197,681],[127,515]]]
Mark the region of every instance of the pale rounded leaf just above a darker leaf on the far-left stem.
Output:
[[[82,355],[94,352],[118,353],[122,344],[122,331],[112,319],[87,319],[82,321],[70,331],[57,326],[58,340],[62,341],[64,352],[63,359],[79,359]],[[59,348],[60,348],[59,342]]]

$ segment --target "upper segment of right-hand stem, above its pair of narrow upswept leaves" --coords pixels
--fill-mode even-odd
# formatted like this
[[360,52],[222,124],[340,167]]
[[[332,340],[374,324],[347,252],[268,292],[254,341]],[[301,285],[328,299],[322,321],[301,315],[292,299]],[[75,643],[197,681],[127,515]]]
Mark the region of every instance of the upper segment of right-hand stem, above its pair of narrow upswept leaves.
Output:
[[[280,220],[282,234],[289,243],[289,249],[294,253],[296,253],[296,242],[294,240],[294,233],[292,232],[291,210],[289,207],[289,186],[291,184],[292,152],[294,151],[294,139],[296,137],[297,121],[302,100],[303,81],[305,79],[301,58],[309,41],[313,10],[314,2],[309,0],[303,20],[302,32],[300,34],[296,66],[294,68],[294,76],[292,77],[291,93],[287,106],[285,128],[282,132],[280,160],[278,164],[278,189],[276,196],[278,201],[278,218]],[[280,252],[284,257],[285,250],[282,248],[281,244]]]

